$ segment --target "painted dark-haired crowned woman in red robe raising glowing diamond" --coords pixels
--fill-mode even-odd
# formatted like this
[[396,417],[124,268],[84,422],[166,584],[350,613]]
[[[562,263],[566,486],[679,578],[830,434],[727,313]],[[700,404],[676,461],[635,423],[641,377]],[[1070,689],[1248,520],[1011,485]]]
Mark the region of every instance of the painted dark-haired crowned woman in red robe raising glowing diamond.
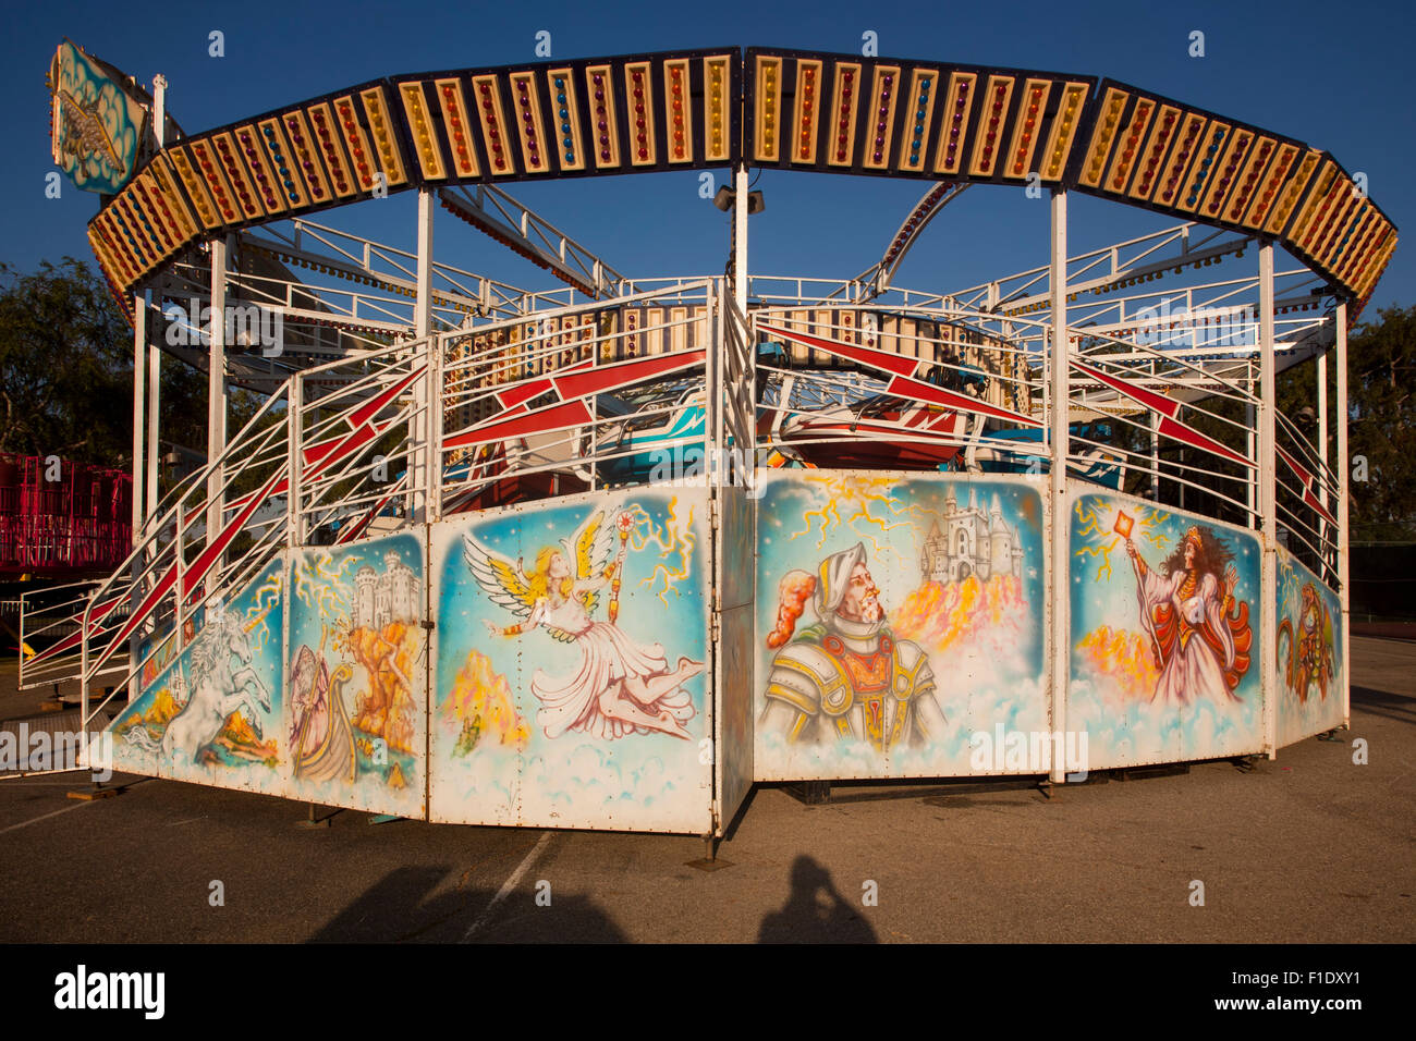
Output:
[[[1117,530],[1121,530],[1120,527]],[[1239,701],[1235,688],[1249,670],[1249,605],[1235,601],[1233,554],[1211,528],[1191,527],[1158,569],[1130,540],[1141,620],[1151,637],[1160,678],[1151,700]]]

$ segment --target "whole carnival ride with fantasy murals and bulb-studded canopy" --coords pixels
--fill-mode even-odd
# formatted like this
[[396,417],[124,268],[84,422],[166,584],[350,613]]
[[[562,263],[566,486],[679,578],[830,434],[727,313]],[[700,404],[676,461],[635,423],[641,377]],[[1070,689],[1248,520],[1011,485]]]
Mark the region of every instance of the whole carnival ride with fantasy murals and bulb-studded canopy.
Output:
[[[1341,418],[1396,232],[1317,147],[1110,79],[759,47],[394,75],[197,135],[68,42],[51,91],[147,460],[127,559],[24,622],[23,683],[82,683],[95,761],[721,837],[755,780],[1062,783],[1347,724],[1325,367]],[[925,194],[857,278],[759,275],[769,167]],[[506,191],[690,169],[731,171],[728,276],[622,275]],[[978,184],[1051,195],[1046,261],[895,285]],[[323,222],[396,191],[412,252]],[[1072,193],[1174,224],[1072,254]],[[565,288],[439,262],[439,207]],[[159,499],[164,351],[212,411]],[[1307,428],[1274,408],[1298,364]],[[229,387],[265,404],[228,435]]]

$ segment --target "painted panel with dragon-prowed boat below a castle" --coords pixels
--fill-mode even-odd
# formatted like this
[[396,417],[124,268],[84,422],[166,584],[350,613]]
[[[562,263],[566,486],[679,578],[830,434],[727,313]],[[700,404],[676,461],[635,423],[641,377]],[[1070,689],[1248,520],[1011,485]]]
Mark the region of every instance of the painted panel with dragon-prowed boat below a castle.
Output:
[[423,541],[307,548],[290,568],[290,797],[422,817]]

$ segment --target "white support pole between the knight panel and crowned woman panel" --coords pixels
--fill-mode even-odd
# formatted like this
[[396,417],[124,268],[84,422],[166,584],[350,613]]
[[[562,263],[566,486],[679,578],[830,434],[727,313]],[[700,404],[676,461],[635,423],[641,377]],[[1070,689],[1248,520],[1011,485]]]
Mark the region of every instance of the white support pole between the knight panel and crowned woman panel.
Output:
[[1052,670],[1052,734],[1062,735],[1052,741],[1052,783],[1066,780],[1063,751],[1072,742],[1066,741],[1066,690],[1069,640],[1069,585],[1068,585],[1068,537],[1069,510],[1066,497],[1066,456],[1070,442],[1068,421],[1072,397],[1070,358],[1066,333],[1066,191],[1052,190],[1052,261],[1049,285],[1052,288],[1052,350],[1048,357],[1049,374],[1049,438],[1052,443],[1051,470],[1048,473],[1048,501],[1051,503],[1051,559],[1048,561],[1048,589],[1051,602],[1051,627],[1048,630],[1048,661]]

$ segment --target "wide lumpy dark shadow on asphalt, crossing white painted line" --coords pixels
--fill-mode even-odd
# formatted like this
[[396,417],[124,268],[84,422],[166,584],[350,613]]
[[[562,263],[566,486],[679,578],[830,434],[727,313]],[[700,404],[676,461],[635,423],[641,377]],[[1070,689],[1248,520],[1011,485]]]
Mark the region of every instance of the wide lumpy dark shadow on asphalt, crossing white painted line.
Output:
[[[432,897],[450,868],[395,868],[354,898],[307,943],[623,943],[627,938],[600,908],[579,897],[556,894],[537,906],[530,892],[506,898],[490,915],[491,889],[463,889]],[[476,929],[473,931],[473,926]]]

